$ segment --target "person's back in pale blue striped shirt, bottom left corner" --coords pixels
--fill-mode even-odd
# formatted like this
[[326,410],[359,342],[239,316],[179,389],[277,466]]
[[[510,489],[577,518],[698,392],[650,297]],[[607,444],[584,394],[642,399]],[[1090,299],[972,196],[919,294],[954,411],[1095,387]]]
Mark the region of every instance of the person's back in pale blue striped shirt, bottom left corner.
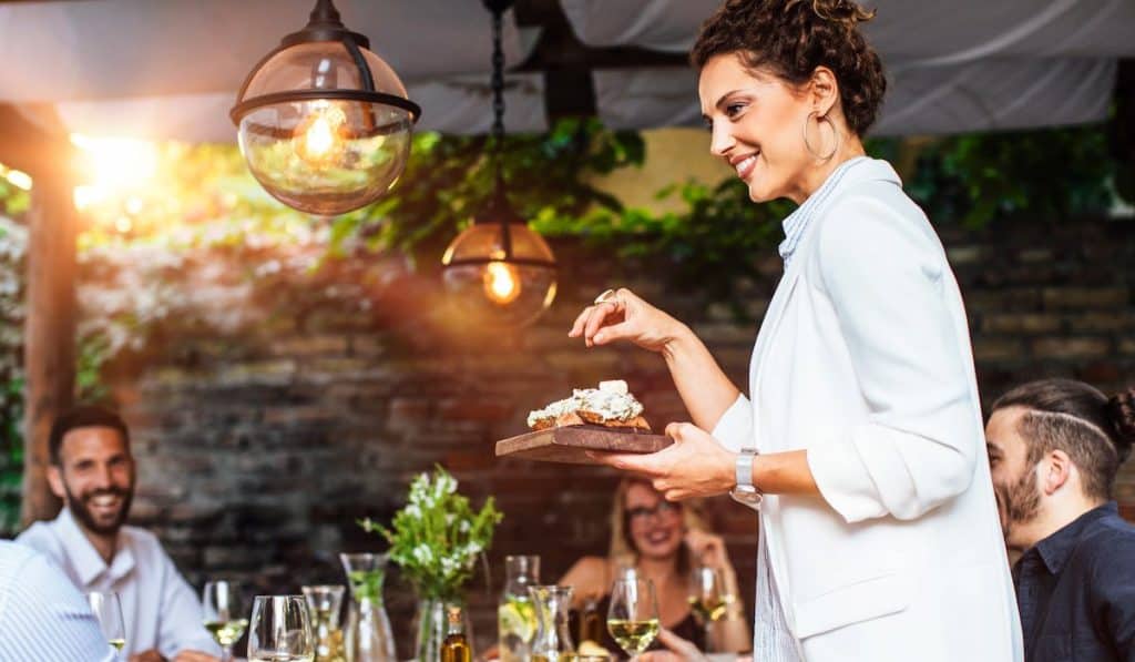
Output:
[[114,659],[67,577],[35,550],[0,541],[0,660]]

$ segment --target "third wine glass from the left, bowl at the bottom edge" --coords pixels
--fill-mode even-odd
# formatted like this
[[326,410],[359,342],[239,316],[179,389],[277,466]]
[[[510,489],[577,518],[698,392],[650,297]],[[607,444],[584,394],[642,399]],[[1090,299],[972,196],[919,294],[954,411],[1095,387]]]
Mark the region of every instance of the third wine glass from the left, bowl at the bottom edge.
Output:
[[249,662],[312,662],[316,637],[302,595],[258,595],[252,602]]

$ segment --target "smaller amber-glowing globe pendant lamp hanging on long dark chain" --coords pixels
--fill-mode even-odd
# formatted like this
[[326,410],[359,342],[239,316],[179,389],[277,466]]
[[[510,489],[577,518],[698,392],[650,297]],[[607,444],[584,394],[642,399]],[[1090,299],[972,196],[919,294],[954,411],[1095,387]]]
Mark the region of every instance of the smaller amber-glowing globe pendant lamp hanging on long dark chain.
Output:
[[445,287],[473,319],[491,326],[536,320],[556,296],[556,260],[539,234],[508,203],[502,164],[504,144],[504,52],[502,15],[513,0],[485,0],[493,12],[493,137],[496,167],[493,198],[457,235],[442,258]]

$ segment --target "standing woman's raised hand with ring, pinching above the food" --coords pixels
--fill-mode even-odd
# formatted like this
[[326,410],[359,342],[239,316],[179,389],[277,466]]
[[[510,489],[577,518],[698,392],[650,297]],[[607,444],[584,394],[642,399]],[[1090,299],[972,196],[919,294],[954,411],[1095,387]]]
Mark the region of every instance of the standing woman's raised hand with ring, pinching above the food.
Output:
[[568,337],[582,336],[589,347],[630,341],[651,352],[661,352],[683,328],[682,322],[624,287],[585,308]]

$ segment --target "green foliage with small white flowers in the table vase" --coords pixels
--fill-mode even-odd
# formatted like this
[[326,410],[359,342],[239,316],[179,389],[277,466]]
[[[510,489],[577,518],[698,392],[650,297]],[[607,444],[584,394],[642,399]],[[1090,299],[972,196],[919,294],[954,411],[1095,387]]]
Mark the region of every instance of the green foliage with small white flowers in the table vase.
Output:
[[469,498],[457,493],[457,480],[437,467],[410,484],[407,503],[389,528],[370,519],[359,526],[386,538],[390,560],[420,596],[449,600],[473,576],[474,563],[491,546],[503,517],[491,496],[474,512]]

